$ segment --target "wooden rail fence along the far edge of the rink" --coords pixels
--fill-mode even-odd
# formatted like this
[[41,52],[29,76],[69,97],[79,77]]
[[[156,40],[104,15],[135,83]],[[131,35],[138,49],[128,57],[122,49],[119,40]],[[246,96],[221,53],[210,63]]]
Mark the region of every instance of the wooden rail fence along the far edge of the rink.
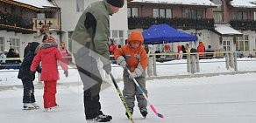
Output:
[[[187,58],[187,62],[185,63],[165,63],[165,62],[162,62],[160,64],[156,64],[157,63],[157,58],[156,56],[157,55],[160,55],[161,57],[160,58],[164,58],[162,56],[176,56],[178,55],[178,53],[174,53],[174,52],[170,52],[170,53],[151,53],[151,54],[148,54],[148,67],[147,67],[147,70],[146,70],[146,74],[148,77],[151,77],[151,76],[157,76],[157,72],[156,72],[156,67],[157,65],[178,65],[178,64],[183,64],[183,65],[187,65],[187,72],[188,73],[192,73],[192,74],[195,74],[196,72],[200,72],[200,65],[201,64],[208,64],[208,63],[214,63],[214,62],[224,62],[225,65],[226,65],[226,69],[227,70],[230,70],[230,69],[233,69],[235,72],[238,72],[238,61],[246,61],[246,62],[250,62],[250,61],[256,61],[255,60],[245,60],[245,59],[238,59],[237,57],[237,54],[238,54],[239,51],[235,51],[235,52],[231,52],[231,51],[224,51],[224,52],[217,52],[218,53],[218,56],[214,56],[213,58],[224,58],[223,61],[213,61],[213,62],[202,62],[199,60],[199,57],[198,57],[198,53],[195,52],[195,53],[184,53],[183,55],[187,55],[188,58]],[[212,53],[212,52],[205,52],[205,53]],[[220,57],[219,54],[223,54],[223,57]],[[110,57],[113,57],[113,55],[110,55]],[[18,59],[21,59],[21,58],[6,58],[5,60],[18,60]],[[1,60],[1,59],[0,59]],[[173,59],[170,59],[170,60],[176,60],[176,58],[173,58]],[[101,64],[101,63],[99,63]],[[8,69],[3,69],[3,67],[7,67],[7,66],[11,66],[11,67],[19,67],[19,65],[21,64],[11,64],[11,65],[5,65],[5,64],[0,64],[0,68],[2,68],[2,70],[0,71],[1,72],[16,72],[18,71],[18,68],[16,69],[11,69],[9,68]],[[70,64],[70,68],[69,69],[76,69],[76,66],[74,63],[71,63]],[[119,67],[119,66],[113,66],[113,67]],[[101,65],[99,65],[99,68],[102,68]],[[6,71],[5,71],[6,70]],[[100,69],[100,72],[103,73],[103,79],[109,79],[108,78],[108,75],[103,71],[103,69]]]

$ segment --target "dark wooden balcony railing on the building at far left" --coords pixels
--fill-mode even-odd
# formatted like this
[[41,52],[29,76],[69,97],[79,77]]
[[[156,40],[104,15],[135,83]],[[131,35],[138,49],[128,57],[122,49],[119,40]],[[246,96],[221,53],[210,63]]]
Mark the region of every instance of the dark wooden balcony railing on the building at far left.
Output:
[[34,33],[32,31],[32,18],[20,17],[8,13],[0,12],[0,29],[15,31],[25,34]]

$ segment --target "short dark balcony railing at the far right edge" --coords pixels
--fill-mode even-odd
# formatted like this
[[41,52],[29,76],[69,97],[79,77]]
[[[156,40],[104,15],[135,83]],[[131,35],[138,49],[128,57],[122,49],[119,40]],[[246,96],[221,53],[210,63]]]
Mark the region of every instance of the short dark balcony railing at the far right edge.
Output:
[[230,24],[236,30],[256,31],[256,21],[253,20],[231,20]]

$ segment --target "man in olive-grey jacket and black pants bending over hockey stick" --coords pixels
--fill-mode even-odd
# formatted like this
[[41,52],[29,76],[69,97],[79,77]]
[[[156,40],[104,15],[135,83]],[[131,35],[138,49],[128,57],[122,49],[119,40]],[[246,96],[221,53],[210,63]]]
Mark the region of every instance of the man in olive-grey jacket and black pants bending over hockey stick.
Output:
[[123,6],[124,0],[103,0],[89,4],[72,34],[75,64],[83,83],[84,113],[87,120],[112,120],[110,115],[101,111],[99,92],[103,79],[97,69],[96,60],[103,62],[103,70],[109,74],[110,16]]

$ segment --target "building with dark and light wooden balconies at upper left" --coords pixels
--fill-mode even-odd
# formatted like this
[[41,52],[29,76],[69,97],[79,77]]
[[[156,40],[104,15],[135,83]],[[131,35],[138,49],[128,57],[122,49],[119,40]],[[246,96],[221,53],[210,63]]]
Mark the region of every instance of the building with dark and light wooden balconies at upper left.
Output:
[[47,0],[0,1],[0,51],[14,49],[23,56],[29,42],[42,40],[42,33],[53,31],[60,41],[60,8]]

